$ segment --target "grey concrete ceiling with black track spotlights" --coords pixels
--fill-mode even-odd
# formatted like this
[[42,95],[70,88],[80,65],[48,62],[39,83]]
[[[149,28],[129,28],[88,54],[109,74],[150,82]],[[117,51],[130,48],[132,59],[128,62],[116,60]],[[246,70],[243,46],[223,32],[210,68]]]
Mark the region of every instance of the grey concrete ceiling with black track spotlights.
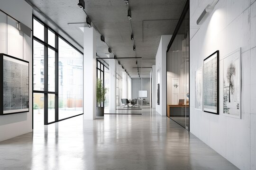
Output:
[[[85,22],[86,12],[99,30],[99,57],[107,57],[109,45],[117,57],[142,57],[139,67],[152,67],[161,35],[173,34],[186,0],[129,0],[128,6],[124,4],[124,0],[85,0],[85,12],[77,6],[78,0],[26,1],[37,8],[33,10],[35,16],[71,41],[79,50],[82,51],[83,46],[83,33],[79,27],[85,25],[73,23]],[[127,17],[128,8],[131,9],[131,20]],[[45,14],[57,26],[40,13]],[[130,39],[131,28],[134,42]],[[108,45],[100,41],[101,34]],[[133,51],[133,44],[136,45],[136,51]],[[134,68],[136,59],[120,59],[120,62],[131,77],[138,77],[137,68]],[[141,77],[149,77],[150,70],[141,68]]]

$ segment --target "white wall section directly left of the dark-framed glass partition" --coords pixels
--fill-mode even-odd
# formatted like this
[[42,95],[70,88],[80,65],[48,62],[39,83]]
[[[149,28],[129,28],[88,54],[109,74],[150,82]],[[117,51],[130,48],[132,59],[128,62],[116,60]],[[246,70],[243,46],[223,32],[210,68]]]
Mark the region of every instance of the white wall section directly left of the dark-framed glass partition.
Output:
[[155,111],[166,116],[166,51],[172,35],[162,35],[155,56],[155,86],[160,85],[160,105],[156,104],[157,92],[155,90]]

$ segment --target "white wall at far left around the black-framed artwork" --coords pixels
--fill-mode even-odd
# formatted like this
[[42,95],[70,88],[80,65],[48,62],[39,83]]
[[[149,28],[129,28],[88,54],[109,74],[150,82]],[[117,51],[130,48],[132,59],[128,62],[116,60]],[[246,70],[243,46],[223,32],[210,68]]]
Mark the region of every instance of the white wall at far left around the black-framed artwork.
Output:
[[[1,0],[0,9],[32,28],[32,8],[24,0]],[[29,112],[0,116],[0,141],[32,131],[32,38],[19,32],[10,18],[7,35],[5,19],[6,15],[0,12],[0,53],[29,61],[30,96]]]

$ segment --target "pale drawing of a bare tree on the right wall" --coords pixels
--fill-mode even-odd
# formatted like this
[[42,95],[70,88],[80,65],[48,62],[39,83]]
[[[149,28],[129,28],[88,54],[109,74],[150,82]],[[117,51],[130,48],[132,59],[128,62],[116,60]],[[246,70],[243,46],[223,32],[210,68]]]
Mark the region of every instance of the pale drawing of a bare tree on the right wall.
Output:
[[241,50],[223,59],[223,113],[241,119]]

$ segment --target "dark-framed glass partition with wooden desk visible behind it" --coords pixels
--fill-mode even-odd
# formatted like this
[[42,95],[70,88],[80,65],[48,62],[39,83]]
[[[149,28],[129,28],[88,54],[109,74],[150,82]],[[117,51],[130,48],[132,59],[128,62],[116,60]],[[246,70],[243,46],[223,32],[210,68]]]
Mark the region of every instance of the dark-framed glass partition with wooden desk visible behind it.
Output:
[[167,116],[189,130],[189,11],[167,52]]

